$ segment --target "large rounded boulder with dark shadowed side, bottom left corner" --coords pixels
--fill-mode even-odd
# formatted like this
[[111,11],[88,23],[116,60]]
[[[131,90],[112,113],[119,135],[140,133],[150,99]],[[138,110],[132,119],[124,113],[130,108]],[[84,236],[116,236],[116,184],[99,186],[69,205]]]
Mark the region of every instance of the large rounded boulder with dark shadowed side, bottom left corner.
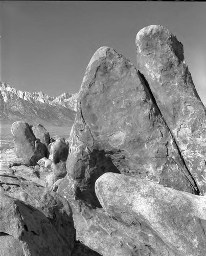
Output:
[[0,232],[15,239],[22,255],[72,255],[75,229],[66,200],[26,180],[0,180]]

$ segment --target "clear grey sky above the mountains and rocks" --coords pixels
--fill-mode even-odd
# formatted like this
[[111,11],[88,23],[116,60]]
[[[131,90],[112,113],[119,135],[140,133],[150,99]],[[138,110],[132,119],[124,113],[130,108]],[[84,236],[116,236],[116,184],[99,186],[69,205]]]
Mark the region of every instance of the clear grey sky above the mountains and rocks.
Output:
[[135,36],[167,27],[184,45],[197,91],[206,102],[206,2],[1,1],[1,80],[51,96],[79,91],[101,46],[136,66]]

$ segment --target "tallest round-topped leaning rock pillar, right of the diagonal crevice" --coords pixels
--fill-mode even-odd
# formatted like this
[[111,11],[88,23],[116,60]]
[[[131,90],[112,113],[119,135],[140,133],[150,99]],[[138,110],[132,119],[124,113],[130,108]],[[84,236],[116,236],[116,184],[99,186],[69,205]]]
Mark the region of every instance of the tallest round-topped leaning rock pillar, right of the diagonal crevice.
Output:
[[148,82],[201,194],[206,192],[206,110],[181,42],[163,26],[136,35],[138,69]]

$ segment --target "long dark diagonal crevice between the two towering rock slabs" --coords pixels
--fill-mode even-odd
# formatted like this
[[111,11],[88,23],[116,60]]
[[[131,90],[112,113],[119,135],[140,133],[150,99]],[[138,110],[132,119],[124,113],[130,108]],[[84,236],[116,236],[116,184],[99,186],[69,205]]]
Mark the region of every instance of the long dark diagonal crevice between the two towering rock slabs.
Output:
[[181,155],[181,152],[180,152],[180,150],[179,150],[179,147],[178,147],[178,145],[177,145],[177,142],[176,142],[176,140],[175,140],[175,138],[174,138],[172,132],[170,131],[170,129],[169,129],[168,125],[167,125],[167,122],[166,122],[166,120],[165,120],[165,118],[164,118],[164,116],[163,116],[161,110],[159,109],[159,107],[158,107],[158,105],[157,105],[157,103],[156,103],[155,97],[154,97],[154,95],[153,95],[153,93],[152,93],[152,91],[151,91],[151,89],[150,89],[149,83],[148,83],[148,81],[146,80],[145,76],[144,76],[140,71],[138,71],[138,74],[139,74],[139,77],[140,77],[141,81],[143,82],[143,86],[144,86],[145,89],[146,89],[146,93],[149,94],[149,96],[150,96],[152,102],[153,102],[154,105],[155,105],[155,108],[158,110],[159,114],[161,115],[161,117],[162,117],[162,119],[163,119],[163,121],[164,121],[164,125],[167,127],[167,129],[168,129],[168,131],[169,131],[169,134],[170,134],[170,136],[171,136],[171,138],[172,138],[172,140],[173,140],[173,142],[174,142],[174,144],[175,144],[175,146],[176,146],[176,148],[177,148],[177,151],[178,151],[178,154],[179,154],[179,156],[180,156],[180,159],[181,159],[181,161],[182,161],[184,167],[185,167],[186,170],[187,170],[187,174],[185,174],[185,172],[184,172],[184,170],[181,168],[181,166],[179,166],[179,167],[180,167],[180,169],[182,170],[182,172],[184,173],[184,175],[186,176],[186,178],[188,179],[189,183],[191,184],[191,186],[192,186],[192,188],[193,188],[193,190],[194,190],[195,195],[198,195],[198,196],[199,196],[199,195],[200,195],[200,191],[199,191],[199,188],[198,188],[198,186],[197,186],[197,183],[195,182],[195,180],[194,180],[192,174],[190,173],[190,171],[189,171],[189,169],[188,169],[188,167],[187,167],[187,165],[186,165],[185,159],[184,159],[184,157],[182,157],[182,155]]

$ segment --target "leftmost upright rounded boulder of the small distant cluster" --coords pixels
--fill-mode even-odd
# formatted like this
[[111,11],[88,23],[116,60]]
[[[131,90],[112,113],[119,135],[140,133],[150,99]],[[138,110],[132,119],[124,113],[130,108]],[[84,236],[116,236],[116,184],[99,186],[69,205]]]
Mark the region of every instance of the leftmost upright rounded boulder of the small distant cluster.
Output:
[[14,150],[17,157],[31,158],[35,154],[35,136],[28,123],[14,122],[11,126]]

